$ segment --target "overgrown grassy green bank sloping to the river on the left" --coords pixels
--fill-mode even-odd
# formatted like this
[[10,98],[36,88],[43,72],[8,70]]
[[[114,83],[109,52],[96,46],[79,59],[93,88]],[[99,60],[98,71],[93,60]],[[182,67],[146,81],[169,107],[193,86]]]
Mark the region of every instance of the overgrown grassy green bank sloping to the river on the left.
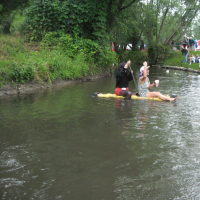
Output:
[[42,43],[0,35],[0,86],[74,80],[112,71],[117,61],[116,53],[110,49],[101,49],[90,40],[75,44],[68,35],[57,41],[50,36]]

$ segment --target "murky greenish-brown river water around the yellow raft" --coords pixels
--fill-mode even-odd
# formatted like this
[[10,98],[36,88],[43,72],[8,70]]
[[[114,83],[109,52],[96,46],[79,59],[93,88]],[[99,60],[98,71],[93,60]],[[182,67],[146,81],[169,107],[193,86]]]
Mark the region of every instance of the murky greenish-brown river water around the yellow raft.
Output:
[[94,97],[114,76],[0,99],[0,198],[200,199],[200,75],[149,78],[178,100]]

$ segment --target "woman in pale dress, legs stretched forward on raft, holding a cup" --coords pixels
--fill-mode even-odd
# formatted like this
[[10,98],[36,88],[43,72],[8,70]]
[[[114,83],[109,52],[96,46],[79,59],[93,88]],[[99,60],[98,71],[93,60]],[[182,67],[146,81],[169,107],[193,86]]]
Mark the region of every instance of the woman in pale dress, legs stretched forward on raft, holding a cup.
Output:
[[162,99],[163,101],[174,101],[177,99],[166,97],[160,92],[149,92],[149,89],[153,88],[155,86],[155,81],[151,84],[148,78],[149,75],[149,67],[147,67],[147,62],[143,62],[143,66],[140,68],[140,78],[138,82],[138,90],[141,97],[158,97]]

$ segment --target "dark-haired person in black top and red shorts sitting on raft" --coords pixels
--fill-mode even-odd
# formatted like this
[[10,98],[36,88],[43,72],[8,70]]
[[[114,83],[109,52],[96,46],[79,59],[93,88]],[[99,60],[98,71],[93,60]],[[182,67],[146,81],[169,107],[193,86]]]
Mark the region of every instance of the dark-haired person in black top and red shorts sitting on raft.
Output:
[[123,96],[125,99],[131,99],[131,95],[138,95],[138,93],[132,93],[129,91],[129,81],[133,80],[133,71],[129,71],[128,67],[131,65],[131,61],[119,63],[116,74],[116,86],[115,94]]

